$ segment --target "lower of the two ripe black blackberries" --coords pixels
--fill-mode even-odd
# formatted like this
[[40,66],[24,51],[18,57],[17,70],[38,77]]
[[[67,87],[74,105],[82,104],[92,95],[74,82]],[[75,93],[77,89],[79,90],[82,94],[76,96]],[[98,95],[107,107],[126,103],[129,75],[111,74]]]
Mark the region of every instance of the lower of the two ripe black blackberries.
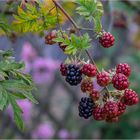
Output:
[[92,116],[94,107],[95,104],[91,98],[82,97],[78,107],[79,116],[88,119],[90,116]]

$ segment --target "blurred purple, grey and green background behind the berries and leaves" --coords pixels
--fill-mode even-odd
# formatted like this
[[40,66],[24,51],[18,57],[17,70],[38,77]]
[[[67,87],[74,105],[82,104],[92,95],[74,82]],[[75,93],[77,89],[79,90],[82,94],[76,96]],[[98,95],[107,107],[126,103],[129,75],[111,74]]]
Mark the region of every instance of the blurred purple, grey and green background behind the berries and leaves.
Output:
[[[18,0],[13,0],[12,6],[0,1],[0,17],[11,18],[6,11],[16,10]],[[51,1],[51,0],[49,0]],[[69,1],[70,2],[70,1]],[[132,67],[130,76],[131,88],[140,93],[140,1],[133,0],[102,0],[104,16],[103,28],[111,32],[115,38],[115,45],[110,49],[102,48],[94,38],[90,49],[100,69],[115,67],[120,62],[127,62]],[[61,3],[63,3],[61,1]],[[66,3],[64,5],[68,6]],[[66,10],[78,25],[93,28],[91,23],[85,22],[75,13],[74,4]],[[63,29],[68,30],[72,25],[65,20]],[[46,31],[47,34],[47,31]],[[24,72],[31,74],[37,92],[34,96],[39,101],[34,105],[28,100],[19,100],[23,109],[25,132],[17,129],[11,108],[0,112],[0,138],[44,138],[44,139],[140,139],[140,104],[127,109],[118,123],[108,124],[97,122],[92,118],[84,120],[78,116],[78,102],[82,96],[80,87],[70,87],[59,73],[59,65],[66,59],[66,55],[57,44],[53,46],[44,43],[44,37],[37,34],[12,34],[6,37],[0,35],[0,49],[13,48],[17,61],[26,64]],[[83,57],[86,56],[83,54]]]

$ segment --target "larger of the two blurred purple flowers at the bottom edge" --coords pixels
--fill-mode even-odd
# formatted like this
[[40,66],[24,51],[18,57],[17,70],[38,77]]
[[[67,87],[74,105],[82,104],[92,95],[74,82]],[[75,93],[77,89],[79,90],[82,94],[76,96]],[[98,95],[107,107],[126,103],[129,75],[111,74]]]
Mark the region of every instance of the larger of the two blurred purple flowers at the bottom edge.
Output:
[[33,138],[50,139],[54,136],[54,128],[50,122],[41,123],[32,133]]

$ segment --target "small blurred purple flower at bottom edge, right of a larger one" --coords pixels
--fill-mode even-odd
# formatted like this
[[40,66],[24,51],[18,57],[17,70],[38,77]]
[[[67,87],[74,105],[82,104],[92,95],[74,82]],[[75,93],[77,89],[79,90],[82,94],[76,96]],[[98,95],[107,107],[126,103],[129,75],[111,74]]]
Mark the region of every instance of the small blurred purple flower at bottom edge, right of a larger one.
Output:
[[70,138],[70,133],[67,129],[61,129],[59,132],[58,132],[58,137],[60,139],[68,139]]

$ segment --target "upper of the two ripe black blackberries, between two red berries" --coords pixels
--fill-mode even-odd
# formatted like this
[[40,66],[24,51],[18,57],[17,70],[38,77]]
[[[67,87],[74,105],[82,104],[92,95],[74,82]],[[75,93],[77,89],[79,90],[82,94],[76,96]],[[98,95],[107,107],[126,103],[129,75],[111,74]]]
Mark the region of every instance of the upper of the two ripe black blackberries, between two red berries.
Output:
[[82,81],[82,72],[77,65],[70,64],[67,68],[66,81],[71,86],[76,86]]

